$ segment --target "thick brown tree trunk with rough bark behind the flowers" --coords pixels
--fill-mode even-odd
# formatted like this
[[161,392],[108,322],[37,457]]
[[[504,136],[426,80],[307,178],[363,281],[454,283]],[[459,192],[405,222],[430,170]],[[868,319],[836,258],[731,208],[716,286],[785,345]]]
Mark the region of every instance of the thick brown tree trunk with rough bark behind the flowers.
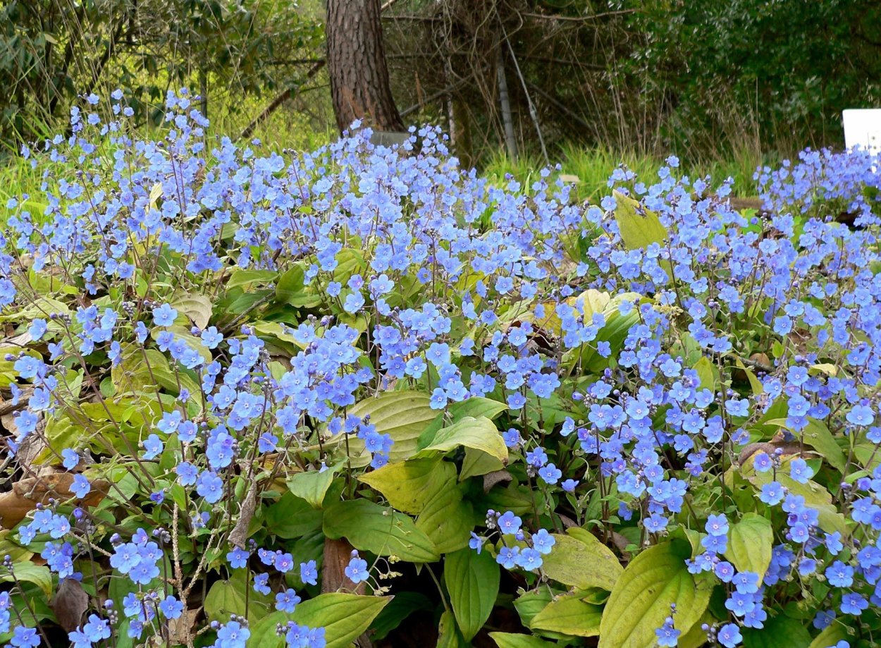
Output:
[[340,132],[356,119],[377,130],[403,130],[389,86],[380,11],[380,0],[328,0],[330,95]]

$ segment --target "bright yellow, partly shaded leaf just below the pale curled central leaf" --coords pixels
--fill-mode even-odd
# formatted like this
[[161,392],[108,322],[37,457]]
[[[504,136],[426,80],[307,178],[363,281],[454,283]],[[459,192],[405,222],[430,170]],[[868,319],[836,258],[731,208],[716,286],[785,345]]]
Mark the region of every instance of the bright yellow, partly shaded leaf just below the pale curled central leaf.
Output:
[[386,464],[359,476],[397,510],[418,515],[441,488],[455,480],[455,465],[441,458],[409,459]]

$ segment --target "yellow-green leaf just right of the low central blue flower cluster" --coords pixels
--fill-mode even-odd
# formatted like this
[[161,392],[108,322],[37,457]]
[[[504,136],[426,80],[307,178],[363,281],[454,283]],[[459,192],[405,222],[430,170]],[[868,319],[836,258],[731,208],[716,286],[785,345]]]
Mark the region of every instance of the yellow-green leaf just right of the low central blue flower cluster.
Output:
[[555,544],[542,563],[545,575],[582,590],[602,587],[611,591],[624,571],[618,558],[592,533],[577,528],[568,533],[553,534]]

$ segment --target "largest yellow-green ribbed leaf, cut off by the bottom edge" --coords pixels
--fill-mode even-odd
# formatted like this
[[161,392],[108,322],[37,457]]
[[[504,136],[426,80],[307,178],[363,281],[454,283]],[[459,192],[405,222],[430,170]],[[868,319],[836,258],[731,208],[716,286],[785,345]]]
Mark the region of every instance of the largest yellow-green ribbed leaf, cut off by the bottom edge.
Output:
[[599,648],[650,648],[655,629],[677,608],[677,629],[687,633],[700,620],[710,600],[705,580],[695,583],[685,567],[692,554],[684,540],[648,547],[630,562],[603,609]]

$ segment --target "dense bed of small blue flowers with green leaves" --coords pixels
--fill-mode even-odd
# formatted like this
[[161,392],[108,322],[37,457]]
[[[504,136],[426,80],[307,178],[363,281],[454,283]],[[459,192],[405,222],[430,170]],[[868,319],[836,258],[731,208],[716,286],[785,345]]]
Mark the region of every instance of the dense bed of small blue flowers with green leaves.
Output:
[[876,643],[877,160],[590,205],[129,113],[6,205],[5,642]]

